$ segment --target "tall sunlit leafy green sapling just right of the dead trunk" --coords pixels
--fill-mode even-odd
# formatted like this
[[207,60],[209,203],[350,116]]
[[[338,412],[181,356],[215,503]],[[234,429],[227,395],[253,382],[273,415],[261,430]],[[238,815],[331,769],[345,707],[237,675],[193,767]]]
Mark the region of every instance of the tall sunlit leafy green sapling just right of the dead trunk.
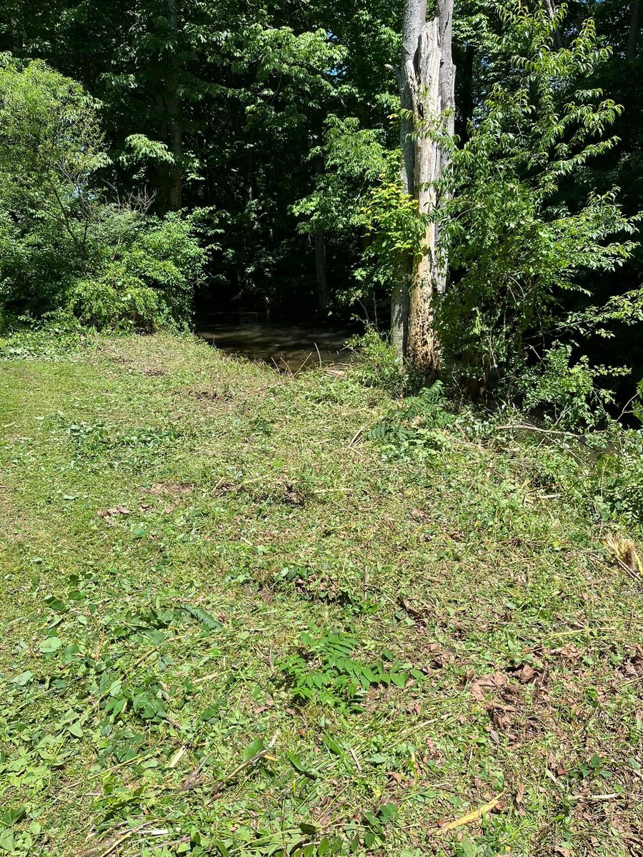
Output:
[[616,145],[609,129],[621,108],[586,86],[610,51],[591,19],[555,50],[560,21],[543,9],[512,3],[502,15],[514,72],[496,82],[454,155],[455,275],[441,317],[449,351],[478,379],[511,364],[527,334],[552,327],[556,300],[579,290],[584,272],[613,271],[634,249],[615,240],[635,229],[616,189],[590,190],[571,205],[562,197],[570,179],[586,177],[588,163]]

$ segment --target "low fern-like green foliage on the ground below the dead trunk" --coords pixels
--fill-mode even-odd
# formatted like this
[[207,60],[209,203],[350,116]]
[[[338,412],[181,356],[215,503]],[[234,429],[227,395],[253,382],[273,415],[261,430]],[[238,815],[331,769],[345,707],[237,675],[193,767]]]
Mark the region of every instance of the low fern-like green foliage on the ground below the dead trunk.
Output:
[[366,435],[382,447],[388,458],[432,458],[448,448],[443,429],[455,422],[447,408],[442,381],[436,381],[417,396],[380,420]]

